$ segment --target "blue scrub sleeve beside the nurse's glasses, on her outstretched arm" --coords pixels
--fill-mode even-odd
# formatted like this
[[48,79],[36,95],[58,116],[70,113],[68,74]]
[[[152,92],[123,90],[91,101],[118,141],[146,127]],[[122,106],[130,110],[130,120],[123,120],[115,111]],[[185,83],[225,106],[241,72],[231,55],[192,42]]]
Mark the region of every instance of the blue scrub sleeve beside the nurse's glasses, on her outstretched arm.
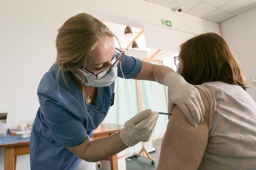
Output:
[[[122,66],[120,67],[120,65]],[[140,72],[141,67],[142,67],[142,61],[140,61],[139,59],[135,59],[134,57],[124,55],[121,63],[118,64],[117,76],[121,78],[126,78],[126,79],[134,78]],[[121,68],[122,68],[122,71],[121,71]],[[124,77],[123,77],[123,74],[124,74]]]

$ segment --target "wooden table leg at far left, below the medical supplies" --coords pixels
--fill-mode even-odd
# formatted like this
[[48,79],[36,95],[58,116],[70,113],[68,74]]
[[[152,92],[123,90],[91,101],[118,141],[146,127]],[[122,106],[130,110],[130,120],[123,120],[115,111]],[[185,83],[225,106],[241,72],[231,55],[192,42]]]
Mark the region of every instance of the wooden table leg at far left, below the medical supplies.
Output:
[[4,170],[15,170],[16,159],[14,158],[14,147],[5,148]]

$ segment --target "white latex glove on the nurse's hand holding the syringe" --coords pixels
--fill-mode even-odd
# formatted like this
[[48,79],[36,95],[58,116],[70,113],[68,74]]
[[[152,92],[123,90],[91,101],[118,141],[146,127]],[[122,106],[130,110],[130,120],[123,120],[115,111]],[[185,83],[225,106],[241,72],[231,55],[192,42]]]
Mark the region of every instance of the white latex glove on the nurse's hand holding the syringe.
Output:
[[148,141],[156,126],[157,118],[158,113],[152,109],[141,111],[124,123],[124,128],[120,132],[122,141],[128,147],[132,147],[140,141]]

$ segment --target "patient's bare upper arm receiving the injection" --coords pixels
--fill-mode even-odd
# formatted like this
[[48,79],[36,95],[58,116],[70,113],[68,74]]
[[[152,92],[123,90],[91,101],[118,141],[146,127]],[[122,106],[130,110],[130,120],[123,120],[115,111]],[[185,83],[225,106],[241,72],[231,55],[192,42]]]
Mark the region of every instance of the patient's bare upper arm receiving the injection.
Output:
[[166,133],[162,139],[158,163],[160,170],[196,170],[200,165],[208,143],[210,104],[204,92],[198,91],[206,109],[204,123],[198,124],[197,128],[191,126],[180,108],[174,106],[172,113],[175,115],[170,117]]

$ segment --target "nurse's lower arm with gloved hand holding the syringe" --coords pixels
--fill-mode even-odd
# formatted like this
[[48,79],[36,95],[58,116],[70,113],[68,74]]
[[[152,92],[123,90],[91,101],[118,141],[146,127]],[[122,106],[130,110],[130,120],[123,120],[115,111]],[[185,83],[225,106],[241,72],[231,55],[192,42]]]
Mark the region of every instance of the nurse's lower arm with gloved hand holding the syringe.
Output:
[[146,109],[126,121],[124,128],[118,133],[94,141],[87,136],[80,145],[66,148],[83,160],[97,162],[117,154],[128,146],[132,147],[140,141],[148,141],[156,126],[157,118],[156,111]]

